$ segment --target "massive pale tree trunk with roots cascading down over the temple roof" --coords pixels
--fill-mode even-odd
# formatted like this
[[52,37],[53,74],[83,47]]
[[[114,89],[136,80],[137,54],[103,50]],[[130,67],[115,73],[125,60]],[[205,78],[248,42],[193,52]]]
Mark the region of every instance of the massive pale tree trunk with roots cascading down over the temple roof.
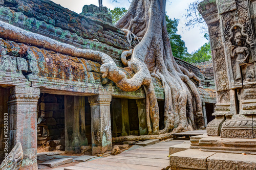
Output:
[[[189,78],[199,81],[199,85],[200,80],[174,59],[166,29],[165,4],[165,0],[133,0],[127,13],[115,25],[143,37],[133,50],[131,67],[135,77],[143,74],[147,80],[147,84],[141,84],[145,87],[146,113],[150,118],[147,124],[152,122],[153,126],[151,130],[148,125],[149,134],[182,132],[203,126],[200,96]],[[146,67],[147,71],[142,73],[140,67]],[[161,131],[158,130],[159,108],[151,76],[162,81],[165,92],[165,128]]]

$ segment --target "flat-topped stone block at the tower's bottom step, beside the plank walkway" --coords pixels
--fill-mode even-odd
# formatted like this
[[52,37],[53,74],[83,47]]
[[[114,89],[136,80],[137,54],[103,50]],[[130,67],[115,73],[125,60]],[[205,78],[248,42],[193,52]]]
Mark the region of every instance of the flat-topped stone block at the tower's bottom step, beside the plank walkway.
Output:
[[200,150],[185,150],[170,155],[171,169],[207,169],[207,158],[215,152],[202,152]]

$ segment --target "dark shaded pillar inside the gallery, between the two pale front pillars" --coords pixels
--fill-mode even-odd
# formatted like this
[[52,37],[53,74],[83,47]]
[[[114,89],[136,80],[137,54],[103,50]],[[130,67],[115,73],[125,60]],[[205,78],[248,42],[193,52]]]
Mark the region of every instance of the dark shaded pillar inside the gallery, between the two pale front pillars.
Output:
[[65,95],[65,151],[80,153],[88,145],[84,96]]

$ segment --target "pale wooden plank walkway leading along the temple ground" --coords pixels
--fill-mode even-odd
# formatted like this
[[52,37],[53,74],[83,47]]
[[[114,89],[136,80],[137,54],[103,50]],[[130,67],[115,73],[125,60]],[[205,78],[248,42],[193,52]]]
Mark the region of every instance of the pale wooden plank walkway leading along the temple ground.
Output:
[[169,168],[169,147],[187,140],[162,141],[116,156],[102,157],[88,162],[66,167],[67,170],[160,170]]

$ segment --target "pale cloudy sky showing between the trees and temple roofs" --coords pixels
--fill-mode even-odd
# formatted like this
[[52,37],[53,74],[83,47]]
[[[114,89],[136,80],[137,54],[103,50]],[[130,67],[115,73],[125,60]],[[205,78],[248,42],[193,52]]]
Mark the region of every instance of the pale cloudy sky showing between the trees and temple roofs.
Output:
[[[51,0],[56,4],[60,4],[62,7],[68,8],[76,13],[82,12],[84,5],[94,4],[98,6],[98,0]],[[131,0],[130,0],[131,1]],[[182,40],[185,41],[188,53],[192,53],[200,48],[207,40],[204,38],[204,33],[201,32],[199,27],[187,30],[185,27],[186,20],[183,15],[186,14],[189,3],[195,0],[169,0],[166,3],[166,12],[169,18],[180,19],[178,26],[178,34],[181,35]],[[115,7],[124,7],[129,9],[130,3],[128,0],[119,0],[120,3],[112,3],[111,0],[102,0],[102,4],[105,7],[114,9]]]

